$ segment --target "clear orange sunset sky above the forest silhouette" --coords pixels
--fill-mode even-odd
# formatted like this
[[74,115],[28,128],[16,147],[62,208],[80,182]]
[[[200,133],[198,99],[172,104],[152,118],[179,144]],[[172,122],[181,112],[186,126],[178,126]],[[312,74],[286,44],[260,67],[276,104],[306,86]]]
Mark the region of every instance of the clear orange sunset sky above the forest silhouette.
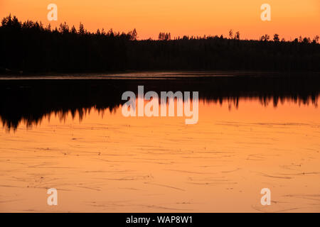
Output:
[[[227,35],[230,28],[241,38],[279,33],[286,39],[320,35],[319,0],[0,0],[0,16],[38,20],[47,24],[47,6],[58,6],[58,21],[84,23],[89,31],[137,28],[140,39],[157,38],[160,31],[178,35]],[[272,21],[262,22],[260,6],[270,4]]]

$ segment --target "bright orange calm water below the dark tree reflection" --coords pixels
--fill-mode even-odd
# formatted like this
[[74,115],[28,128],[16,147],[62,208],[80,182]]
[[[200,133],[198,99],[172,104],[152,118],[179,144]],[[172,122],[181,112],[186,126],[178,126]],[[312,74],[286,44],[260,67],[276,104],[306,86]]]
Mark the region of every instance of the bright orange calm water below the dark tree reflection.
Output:
[[0,131],[0,211],[320,211],[319,116],[314,101],[240,97],[201,99],[196,125],[121,105],[24,119]]

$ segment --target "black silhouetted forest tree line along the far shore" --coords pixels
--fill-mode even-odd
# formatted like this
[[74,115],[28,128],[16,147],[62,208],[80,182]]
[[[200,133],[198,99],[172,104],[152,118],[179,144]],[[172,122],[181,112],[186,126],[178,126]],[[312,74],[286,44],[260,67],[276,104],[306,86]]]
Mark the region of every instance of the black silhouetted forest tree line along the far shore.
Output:
[[59,28],[41,22],[5,17],[0,26],[0,72],[114,72],[123,70],[320,70],[319,36],[286,41],[274,34],[260,40],[229,37],[183,36],[137,40],[137,31],[112,29],[91,33],[61,23]]

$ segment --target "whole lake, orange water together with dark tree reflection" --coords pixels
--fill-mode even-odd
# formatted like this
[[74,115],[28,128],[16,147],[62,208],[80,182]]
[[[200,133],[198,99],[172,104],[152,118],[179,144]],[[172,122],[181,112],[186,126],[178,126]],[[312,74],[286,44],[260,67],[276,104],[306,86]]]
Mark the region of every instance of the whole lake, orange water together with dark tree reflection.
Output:
[[[319,77],[178,74],[2,78],[0,211],[320,211]],[[198,91],[198,123],[124,117],[138,85]]]

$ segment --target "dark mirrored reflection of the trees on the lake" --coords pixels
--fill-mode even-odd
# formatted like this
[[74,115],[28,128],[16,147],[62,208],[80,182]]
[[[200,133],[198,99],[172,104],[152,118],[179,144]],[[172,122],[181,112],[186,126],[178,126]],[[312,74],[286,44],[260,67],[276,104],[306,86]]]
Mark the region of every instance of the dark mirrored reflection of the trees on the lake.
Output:
[[284,101],[317,106],[319,77],[201,77],[184,79],[33,79],[1,80],[0,118],[9,130],[21,122],[38,125],[55,114],[63,120],[70,113],[80,120],[90,110],[114,112],[124,103],[125,91],[198,91],[203,103],[228,102],[235,109],[240,99],[258,99],[263,106],[278,106]]

